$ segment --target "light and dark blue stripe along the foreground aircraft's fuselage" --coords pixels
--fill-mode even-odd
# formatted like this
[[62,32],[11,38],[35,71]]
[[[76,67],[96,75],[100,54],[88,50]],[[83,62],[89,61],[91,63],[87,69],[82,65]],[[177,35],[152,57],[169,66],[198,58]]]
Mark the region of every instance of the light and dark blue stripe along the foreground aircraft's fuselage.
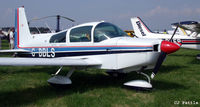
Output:
[[20,53],[20,57],[40,57],[42,54],[54,55],[55,57],[83,56],[83,55],[102,55],[120,53],[151,52],[153,47],[67,47],[67,48],[26,48],[31,53]]

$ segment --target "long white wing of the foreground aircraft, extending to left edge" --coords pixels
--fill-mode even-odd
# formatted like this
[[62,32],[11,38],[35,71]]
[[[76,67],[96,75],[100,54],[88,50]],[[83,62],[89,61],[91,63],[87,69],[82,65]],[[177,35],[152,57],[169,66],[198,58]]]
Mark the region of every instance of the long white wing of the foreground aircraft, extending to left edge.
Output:
[[98,66],[99,61],[88,58],[9,58],[1,57],[0,66]]

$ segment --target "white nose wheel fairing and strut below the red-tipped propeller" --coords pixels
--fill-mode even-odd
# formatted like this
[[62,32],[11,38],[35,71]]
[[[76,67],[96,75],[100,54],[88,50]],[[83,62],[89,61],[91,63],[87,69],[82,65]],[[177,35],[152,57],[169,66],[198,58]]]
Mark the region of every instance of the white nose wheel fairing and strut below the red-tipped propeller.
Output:
[[129,82],[124,83],[125,86],[136,89],[136,90],[151,90],[152,89],[152,85],[151,85],[151,80],[150,77],[141,72],[143,71],[145,67],[142,67],[141,70],[137,71],[138,74],[144,75],[148,81],[145,80],[132,80]]

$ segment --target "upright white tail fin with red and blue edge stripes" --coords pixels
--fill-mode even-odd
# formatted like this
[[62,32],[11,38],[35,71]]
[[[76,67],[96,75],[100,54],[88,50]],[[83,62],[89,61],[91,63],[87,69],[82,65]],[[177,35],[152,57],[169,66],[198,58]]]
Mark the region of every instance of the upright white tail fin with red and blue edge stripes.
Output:
[[24,7],[19,7],[15,10],[15,35],[14,48],[25,46],[31,40],[31,33]]

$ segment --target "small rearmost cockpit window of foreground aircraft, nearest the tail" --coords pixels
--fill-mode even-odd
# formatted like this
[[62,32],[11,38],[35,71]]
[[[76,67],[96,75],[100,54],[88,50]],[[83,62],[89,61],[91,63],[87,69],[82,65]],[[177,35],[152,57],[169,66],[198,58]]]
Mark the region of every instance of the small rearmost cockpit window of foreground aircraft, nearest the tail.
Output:
[[66,42],[66,33],[67,33],[67,31],[53,35],[50,38],[49,42],[50,43],[65,43]]

